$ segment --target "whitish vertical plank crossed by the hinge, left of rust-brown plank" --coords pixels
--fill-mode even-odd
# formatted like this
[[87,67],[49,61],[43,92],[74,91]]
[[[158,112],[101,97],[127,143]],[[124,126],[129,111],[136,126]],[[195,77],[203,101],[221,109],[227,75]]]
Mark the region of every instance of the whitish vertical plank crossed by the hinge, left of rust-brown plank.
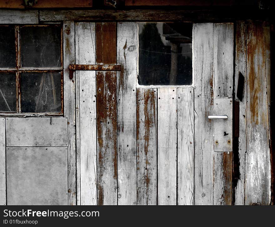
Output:
[[[95,64],[95,23],[75,23],[76,63]],[[96,72],[77,71],[81,205],[97,205]]]

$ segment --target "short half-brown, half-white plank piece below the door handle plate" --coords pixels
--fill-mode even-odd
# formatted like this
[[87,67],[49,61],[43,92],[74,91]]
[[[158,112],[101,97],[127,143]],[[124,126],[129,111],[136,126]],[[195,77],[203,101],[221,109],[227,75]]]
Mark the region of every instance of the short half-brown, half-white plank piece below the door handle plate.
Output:
[[214,152],[214,205],[232,203],[232,152]]

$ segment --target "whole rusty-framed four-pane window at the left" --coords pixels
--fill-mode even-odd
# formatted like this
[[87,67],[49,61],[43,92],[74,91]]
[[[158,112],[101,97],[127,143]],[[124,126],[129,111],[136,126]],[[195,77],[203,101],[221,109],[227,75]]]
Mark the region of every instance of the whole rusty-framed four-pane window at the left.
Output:
[[62,29],[0,26],[0,114],[63,113]]

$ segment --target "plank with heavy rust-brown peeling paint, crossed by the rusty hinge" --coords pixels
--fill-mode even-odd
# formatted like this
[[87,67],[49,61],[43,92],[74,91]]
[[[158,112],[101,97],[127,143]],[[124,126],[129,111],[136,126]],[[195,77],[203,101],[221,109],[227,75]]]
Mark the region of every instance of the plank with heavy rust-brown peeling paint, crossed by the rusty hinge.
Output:
[[[96,62],[117,62],[116,22],[96,23]],[[98,205],[118,204],[117,72],[97,71]]]

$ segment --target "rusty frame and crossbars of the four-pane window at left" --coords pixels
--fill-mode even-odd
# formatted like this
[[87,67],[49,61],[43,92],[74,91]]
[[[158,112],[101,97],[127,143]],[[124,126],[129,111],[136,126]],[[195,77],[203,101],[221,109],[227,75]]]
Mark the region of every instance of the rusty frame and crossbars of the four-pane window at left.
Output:
[[[63,26],[61,23],[50,24],[1,24],[0,27],[14,26],[15,30],[15,68],[0,68],[0,73],[15,73],[16,74],[16,112],[0,112],[0,116],[64,116],[64,96],[63,96],[63,81],[64,81],[64,68],[63,68]],[[21,67],[21,51],[20,51],[20,28],[22,27],[53,27],[60,28],[60,67]],[[22,112],[21,111],[21,73],[46,73],[57,72],[60,73],[61,79],[61,111],[60,112]]]

